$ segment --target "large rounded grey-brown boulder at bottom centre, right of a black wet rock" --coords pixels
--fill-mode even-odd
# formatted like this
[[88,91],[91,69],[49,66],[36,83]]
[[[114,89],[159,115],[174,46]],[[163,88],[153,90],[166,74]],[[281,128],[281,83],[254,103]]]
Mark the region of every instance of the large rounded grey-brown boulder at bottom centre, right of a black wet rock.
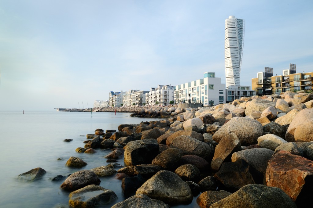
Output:
[[145,194],[170,205],[190,203],[193,199],[187,183],[175,173],[165,170],[157,172],[147,180],[136,194]]

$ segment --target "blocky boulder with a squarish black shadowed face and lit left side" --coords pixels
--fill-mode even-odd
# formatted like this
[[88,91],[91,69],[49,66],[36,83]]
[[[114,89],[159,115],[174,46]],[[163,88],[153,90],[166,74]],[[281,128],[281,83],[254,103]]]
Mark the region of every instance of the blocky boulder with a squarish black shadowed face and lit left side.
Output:
[[159,153],[156,139],[131,141],[126,145],[124,162],[127,166],[149,164]]

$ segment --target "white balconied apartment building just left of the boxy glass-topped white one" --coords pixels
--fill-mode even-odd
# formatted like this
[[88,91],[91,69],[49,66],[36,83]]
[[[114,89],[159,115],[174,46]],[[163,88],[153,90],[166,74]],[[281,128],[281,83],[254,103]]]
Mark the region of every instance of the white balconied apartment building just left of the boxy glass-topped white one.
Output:
[[150,106],[167,106],[174,101],[174,86],[158,85],[156,88],[150,88],[146,92],[146,105]]

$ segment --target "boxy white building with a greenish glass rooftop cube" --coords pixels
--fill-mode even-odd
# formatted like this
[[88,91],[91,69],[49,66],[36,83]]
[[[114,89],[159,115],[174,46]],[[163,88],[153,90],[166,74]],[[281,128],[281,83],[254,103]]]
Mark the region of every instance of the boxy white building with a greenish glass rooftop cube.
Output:
[[225,103],[225,84],[221,78],[215,77],[215,72],[205,72],[203,79],[176,85],[175,103],[202,103],[203,106],[213,106]]

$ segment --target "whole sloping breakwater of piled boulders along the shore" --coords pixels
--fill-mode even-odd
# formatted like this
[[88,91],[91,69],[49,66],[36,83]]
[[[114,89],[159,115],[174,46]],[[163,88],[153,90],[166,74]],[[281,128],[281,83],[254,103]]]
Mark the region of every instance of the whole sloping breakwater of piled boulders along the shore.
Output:
[[[310,207],[312,107],[312,93],[288,91],[198,109],[139,109],[134,116],[158,110],[170,117],[87,134],[76,151],[109,148],[111,163],[57,176],[64,181],[60,188],[72,191],[71,207],[114,202],[119,196],[99,186],[99,176],[111,175],[130,196],[114,208],[170,207],[191,203],[193,196],[199,207]],[[119,158],[126,167],[116,163]],[[66,165],[86,162],[70,157]],[[20,177],[43,174],[36,168]]]

